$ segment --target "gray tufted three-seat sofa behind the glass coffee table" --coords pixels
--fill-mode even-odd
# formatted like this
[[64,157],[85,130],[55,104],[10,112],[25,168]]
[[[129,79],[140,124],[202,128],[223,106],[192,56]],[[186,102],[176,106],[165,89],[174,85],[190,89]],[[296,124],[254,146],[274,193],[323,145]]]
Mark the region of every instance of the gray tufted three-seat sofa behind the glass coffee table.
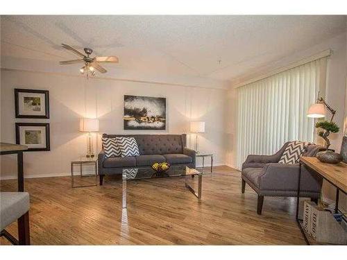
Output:
[[103,176],[122,174],[124,168],[145,168],[154,162],[169,162],[195,168],[195,150],[186,147],[187,135],[107,135],[103,137],[134,137],[139,146],[139,156],[109,157],[103,150],[98,155],[100,185]]

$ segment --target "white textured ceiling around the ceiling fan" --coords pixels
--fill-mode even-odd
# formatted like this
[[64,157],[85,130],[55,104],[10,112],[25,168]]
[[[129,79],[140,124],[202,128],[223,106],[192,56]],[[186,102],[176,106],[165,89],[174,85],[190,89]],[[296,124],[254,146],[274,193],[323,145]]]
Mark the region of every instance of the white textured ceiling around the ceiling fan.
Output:
[[2,16],[1,55],[75,59],[65,43],[117,55],[120,63],[107,69],[234,80],[344,31],[343,15]]

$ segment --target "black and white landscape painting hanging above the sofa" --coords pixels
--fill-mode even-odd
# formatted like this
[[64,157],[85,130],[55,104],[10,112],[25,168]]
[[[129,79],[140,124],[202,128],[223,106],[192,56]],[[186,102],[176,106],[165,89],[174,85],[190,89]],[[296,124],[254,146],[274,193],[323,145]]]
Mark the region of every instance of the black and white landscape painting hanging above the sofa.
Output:
[[167,99],[124,96],[124,130],[165,130]]

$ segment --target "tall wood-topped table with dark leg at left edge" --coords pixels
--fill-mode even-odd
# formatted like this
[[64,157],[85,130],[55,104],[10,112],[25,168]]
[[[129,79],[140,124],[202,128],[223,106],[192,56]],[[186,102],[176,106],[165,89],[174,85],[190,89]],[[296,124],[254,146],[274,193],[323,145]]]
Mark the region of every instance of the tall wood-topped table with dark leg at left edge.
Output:
[[18,191],[24,191],[24,169],[23,169],[23,152],[28,150],[28,146],[21,144],[0,143],[1,155],[17,154],[17,185]]

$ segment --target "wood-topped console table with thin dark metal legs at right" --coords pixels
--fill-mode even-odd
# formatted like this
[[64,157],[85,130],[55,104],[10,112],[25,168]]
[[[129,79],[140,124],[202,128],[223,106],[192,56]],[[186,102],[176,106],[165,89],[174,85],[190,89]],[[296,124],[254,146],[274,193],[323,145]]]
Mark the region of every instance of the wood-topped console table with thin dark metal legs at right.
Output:
[[339,191],[347,194],[347,164],[340,162],[339,164],[325,164],[320,162],[316,157],[301,157],[299,162],[299,175],[298,175],[298,193],[296,198],[296,222],[303,234],[307,245],[310,245],[306,233],[301,225],[301,220],[298,218],[298,207],[300,200],[300,180],[301,180],[301,168],[311,168],[316,174],[327,180],[330,184],[336,187],[336,199],[335,199],[335,213],[339,211]]

